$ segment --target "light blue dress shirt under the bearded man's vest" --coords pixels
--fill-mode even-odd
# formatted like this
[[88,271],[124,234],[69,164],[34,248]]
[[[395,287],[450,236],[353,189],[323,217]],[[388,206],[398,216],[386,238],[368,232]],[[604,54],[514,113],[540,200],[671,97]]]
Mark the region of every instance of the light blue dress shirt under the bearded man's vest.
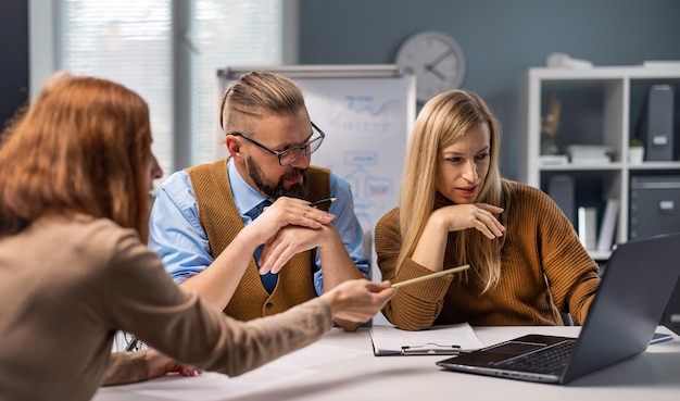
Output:
[[[227,170],[236,208],[243,225],[248,225],[251,217],[245,213],[265,198],[241,178],[234,160],[229,160]],[[364,233],[354,214],[350,184],[333,172],[330,173],[330,196],[337,198],[328,210],[336,216],[332,224],[340,233],[354,264],[365,277],[368,277],[368,259],[363,247]],[[165,271],[178,284],[201,273],[213,263],[207,236],[199,221],[191,179],[185,171],[171,175],[159,190],[149,220],[149,248],[159,254]],[[314,274],[314,287],[316,293],[320,295],[324,281],[320,259],[318,252],[316,253],[318,268]]]

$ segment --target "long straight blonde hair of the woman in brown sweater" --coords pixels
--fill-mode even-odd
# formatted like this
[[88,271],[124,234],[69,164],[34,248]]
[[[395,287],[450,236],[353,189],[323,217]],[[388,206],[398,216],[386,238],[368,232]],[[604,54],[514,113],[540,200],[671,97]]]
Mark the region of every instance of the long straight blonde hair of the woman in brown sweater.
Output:
[[[441,162],[441,150],[482,123],[489,125],[491,133],[490,162],[477,202],[507,206],[502,204],[507,199],[503,199],[503,180],[499,172],[499,122],[483,100],[474,92],[451,90],[435,97],[425,104],[416,118],[406,155],[399,204],[402,248],[398,266],[413,254],[427,220],[435,210],[436,200],[442,197],[437,191],[437,167]],[[451,233],[451,237],[456,245],[456,263],[469,263],[481,275],[486,283],[482,292],[495,285],[501,274],[500,248],[504,237],[490,241],[476,229]]]

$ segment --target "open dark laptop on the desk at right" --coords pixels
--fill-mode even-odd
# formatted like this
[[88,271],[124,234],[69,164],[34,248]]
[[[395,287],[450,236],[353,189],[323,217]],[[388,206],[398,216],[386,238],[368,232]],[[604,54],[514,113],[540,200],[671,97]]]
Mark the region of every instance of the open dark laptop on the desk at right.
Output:
[[455,372],[567,384],[646,350],[680,275],[680,234],[619,245],[578,338],[528,335],[437,362]]

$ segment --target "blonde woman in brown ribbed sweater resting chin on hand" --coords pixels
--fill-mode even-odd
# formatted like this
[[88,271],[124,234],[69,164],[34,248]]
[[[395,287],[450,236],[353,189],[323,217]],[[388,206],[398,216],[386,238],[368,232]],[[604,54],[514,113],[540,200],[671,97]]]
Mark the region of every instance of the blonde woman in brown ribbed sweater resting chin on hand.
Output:
[[430,100],[414,126],[399,208],[375,246],[392,283],[470,264],[403,287],[383,309],[394,325],[562,325],[585,319],[597,264],[571,223],[539,189],[501,177],[501,128],[476,93]]

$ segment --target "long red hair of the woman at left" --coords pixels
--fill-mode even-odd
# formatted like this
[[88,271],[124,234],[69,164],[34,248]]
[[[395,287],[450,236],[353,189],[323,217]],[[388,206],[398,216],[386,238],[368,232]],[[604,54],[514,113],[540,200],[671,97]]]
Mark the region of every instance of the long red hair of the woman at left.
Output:
[[56,74],[0,148],[0,236],[83,213],[147,240],[149,108],[105,79]]

